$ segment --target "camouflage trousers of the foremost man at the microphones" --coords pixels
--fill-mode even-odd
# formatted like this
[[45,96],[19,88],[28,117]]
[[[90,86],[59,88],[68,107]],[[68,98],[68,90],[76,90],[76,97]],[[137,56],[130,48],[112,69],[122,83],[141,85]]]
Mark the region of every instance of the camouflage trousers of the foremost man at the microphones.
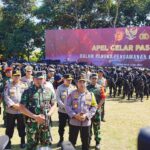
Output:
[[26,122],[27,150],[36,150],[37,146],[49,146],[50,133],[45,125],[36,122]]

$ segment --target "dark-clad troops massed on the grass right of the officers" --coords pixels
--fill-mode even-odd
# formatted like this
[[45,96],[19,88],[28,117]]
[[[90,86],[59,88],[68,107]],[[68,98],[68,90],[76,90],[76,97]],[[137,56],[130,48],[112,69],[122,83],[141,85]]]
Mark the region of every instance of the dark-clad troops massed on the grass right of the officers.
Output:
[[120,96],[128,100],[133,98],[141,99],[143,102],[144,95],[149,98],[150,93],[150,70],[147,68],[111,68],[107,72],[108,87],[110,89],[110,97]]

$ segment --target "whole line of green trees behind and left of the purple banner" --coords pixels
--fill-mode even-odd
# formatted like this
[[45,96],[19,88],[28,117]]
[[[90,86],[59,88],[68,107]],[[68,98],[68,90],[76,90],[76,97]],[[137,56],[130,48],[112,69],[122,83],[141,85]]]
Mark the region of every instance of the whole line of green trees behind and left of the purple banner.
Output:
[[150,0],[1,0],[0,57],[26,58],[40,48],[45,30],[150,25]]

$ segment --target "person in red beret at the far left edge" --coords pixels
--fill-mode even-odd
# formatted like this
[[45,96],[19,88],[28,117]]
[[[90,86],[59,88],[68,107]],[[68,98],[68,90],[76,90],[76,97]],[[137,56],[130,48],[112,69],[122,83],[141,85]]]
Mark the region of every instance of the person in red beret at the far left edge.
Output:
[[[1,87],[0,87],[0,101],[3,103],[3,120],[4,120],[4,127],[6,127],[7,121],[6,121],[6,104],[4,101],[4,89],[7,83],[11,82],[11,77],[12,77],[12,68],[7,67],[5,70],[5,76],[3,77],[3,80],[1,80]],[[1,102],[0,102],[1,103]]]

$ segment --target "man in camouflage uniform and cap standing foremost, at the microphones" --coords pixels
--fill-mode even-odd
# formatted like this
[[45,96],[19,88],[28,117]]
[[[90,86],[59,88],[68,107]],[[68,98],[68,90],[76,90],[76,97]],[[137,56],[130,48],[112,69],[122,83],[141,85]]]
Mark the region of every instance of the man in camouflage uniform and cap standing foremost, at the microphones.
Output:
[[45,75],[36,72],[31,85],[22,95],[21,104],[14,105],[28,116],[26,118],[27,150],[36,150],[37,146],[51,145],[49,116],[56,108],[56,96],[45,87]]

